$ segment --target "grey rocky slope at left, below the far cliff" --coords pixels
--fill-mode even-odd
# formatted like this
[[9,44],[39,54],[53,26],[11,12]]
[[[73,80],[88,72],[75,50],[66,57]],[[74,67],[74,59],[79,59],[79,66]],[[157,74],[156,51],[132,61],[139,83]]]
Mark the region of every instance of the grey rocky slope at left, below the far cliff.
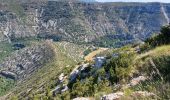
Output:
[[0,96],[15,87],[38,69],[49,63],[55,56],[50,43],[31,43],[23,49],[15,49],[13,44],[1,44]]

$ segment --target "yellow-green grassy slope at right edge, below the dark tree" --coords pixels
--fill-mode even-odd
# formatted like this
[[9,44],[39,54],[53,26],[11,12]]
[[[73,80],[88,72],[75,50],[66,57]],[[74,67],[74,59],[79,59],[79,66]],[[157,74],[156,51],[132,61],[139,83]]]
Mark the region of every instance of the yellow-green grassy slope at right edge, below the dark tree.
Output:
[[[170,81],[168,80],[170,77],[169,59],[170,45],[156,47],[155,49],[138,55],[135,59],[135,66],[138,69],[138,73],[152,78],[149,79],[149,81],[138,84],[137,86],[125,89],[125,93],[130,94],[130,92],[132,93],[133,91],[149,91],[156,94],[158,99],[170,99]],[[151,61],[153,61],[153,64],[151,64]],[[155,76],[153,72],[155,72]],[[127,96],[127,98],[130,97]],[[138,99],[138,97],[136,99]],[[150,100],[151,98],[143,99]]]

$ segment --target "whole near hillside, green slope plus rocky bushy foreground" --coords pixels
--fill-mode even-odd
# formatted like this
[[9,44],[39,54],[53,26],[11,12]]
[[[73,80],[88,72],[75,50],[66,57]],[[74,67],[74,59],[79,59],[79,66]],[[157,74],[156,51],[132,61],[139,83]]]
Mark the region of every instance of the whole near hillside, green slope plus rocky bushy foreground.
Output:
[[[145,44],[115,49],[48,40],[55,53],[50,62],[34,70],[32,75],[26,74],[29,76],[22,81],[1,78],[3,84],[7,84],[6,89],[12,87],[1,99],[168,100],[170,45],[165,42],[169,40],[164,39],[167,38],[164,35],[169,34],[166,32],[169,26]],[[154,42],[163,44],[155,46]],[[84,56],[82,52],[89,49],[93,51]],[[25,50],[27,48],[19,51]],[[86,57],[90,57],[90,61]]]

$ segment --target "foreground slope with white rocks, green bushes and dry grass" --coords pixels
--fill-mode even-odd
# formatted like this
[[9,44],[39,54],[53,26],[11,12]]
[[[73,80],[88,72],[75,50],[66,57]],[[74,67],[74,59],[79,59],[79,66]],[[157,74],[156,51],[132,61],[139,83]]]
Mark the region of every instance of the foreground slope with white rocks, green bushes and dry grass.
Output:
[[62,94],[64,99],[75,100],[79,97],[87,100],[169,99],[169,50],[169,45],[141,54],[135,53],[132,47],[115,49],[100,67],[89,62],[77,66],[68,75],[69,89],[59,92],[56,88],[54,98]]

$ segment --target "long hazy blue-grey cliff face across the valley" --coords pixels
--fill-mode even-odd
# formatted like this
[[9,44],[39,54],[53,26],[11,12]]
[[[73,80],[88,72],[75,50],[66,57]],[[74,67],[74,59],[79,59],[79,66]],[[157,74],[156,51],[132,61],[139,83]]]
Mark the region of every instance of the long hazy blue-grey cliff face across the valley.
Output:
[[1,21],[1,33],[5,36],[38,36],[74,42],[96,42],[101,37],[109,37],[126,44],[158,32],[160,26],[169,23],[170,16],[170,5],[160,3],[48,1],[21,6],[26,15],[25,23],[19,24],[17,17],[4,17],[8,19]]

